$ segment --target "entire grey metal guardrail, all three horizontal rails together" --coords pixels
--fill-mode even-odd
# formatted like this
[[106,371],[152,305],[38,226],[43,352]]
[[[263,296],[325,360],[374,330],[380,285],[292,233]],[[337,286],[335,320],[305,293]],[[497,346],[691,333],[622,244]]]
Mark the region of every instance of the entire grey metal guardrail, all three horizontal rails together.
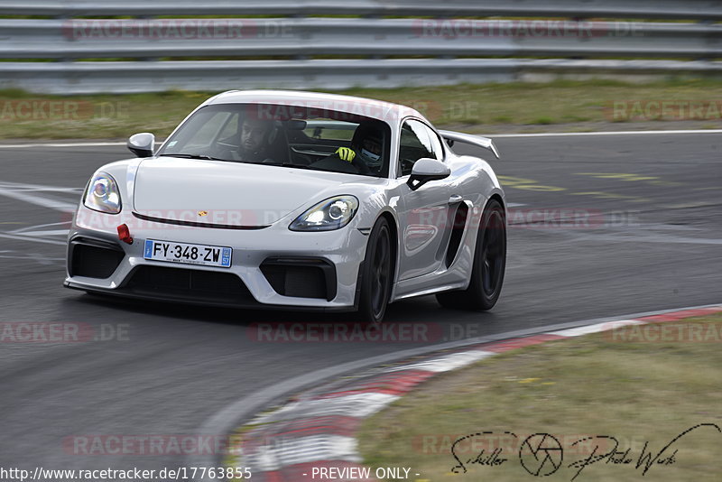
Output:
[[[23,60],[0,62],[0,88],[42,92],[718,76],[722,58],[722,1],[0,0],[0,15],[55,17],[0,19],[0,59]],[[74,18],[94,15],[135,18]],[[592,17],[688,22],[582,20]]]

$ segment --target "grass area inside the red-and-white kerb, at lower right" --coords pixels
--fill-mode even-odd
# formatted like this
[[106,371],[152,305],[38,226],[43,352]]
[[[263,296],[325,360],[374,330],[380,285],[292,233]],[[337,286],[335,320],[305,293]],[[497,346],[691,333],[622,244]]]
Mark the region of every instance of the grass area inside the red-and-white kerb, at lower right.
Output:
[[[644,453],[654,460],[671,440],[700,423],[722,427],[720,338],[722,315],[713,315],[562,339],[487,358],[434,377],[366,419],[359,450],[367,466],[411,467],[421,474],[420,481],[532,480],[525,465],[532,471],[542,468],[542,476],[554,463],[560,467],[546,478],[550,481],[718,480],[722,433],[710,426],[672,443],[646,475],[644,460],[639,468],[636,464]],[[484,431],[493,433],[454,446]],[[523,440],[536,433],[559,440],[561,461],[552,451],[543,466],[542,452],[533,458]],[[618,445],[599,436],[614,437]],[[543,443],[554,447],[549,438]],[[574,478],[580,460],[605,455]]]

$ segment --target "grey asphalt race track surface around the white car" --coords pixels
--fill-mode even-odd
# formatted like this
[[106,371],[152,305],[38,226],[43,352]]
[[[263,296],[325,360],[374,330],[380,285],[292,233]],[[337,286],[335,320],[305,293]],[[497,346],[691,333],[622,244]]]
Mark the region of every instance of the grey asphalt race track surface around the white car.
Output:
[[[458,339],[722,301],[722,134],[496,142],[514,206],[499,303],[446,311],[427,296],[391,305],[386,323],[438,323]],[[0,342],[0,465],[180,467],[181,454],[85,455],[68,440],[192,434],[283,379],[443,339],[259,342],[254,323],[347,316],[111,302],[63,288],[67,210],[97,166],[125,157],[122,146],[0,148],[0,322],[80,323],[110,338]],[[570,226],[551,221],[569,215]]]

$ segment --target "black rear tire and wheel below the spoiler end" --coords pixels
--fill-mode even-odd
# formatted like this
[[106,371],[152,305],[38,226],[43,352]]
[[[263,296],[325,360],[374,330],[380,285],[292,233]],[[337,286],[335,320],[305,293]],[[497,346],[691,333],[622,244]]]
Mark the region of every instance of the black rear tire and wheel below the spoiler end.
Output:
[[506,269],[506,219],[499,201],[486,204],[477,233],[471,281],[466,290],[440,292],[444,308],[486,311],[499,299]]

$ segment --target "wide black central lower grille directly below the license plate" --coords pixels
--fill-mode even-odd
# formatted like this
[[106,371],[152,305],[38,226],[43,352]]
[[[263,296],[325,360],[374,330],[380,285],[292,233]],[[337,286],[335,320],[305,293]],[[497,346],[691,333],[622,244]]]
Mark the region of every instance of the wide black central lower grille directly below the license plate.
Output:
[[255,298],[233,273],[140,266],[125,285],[132,294],[218,303],[247,303]]

